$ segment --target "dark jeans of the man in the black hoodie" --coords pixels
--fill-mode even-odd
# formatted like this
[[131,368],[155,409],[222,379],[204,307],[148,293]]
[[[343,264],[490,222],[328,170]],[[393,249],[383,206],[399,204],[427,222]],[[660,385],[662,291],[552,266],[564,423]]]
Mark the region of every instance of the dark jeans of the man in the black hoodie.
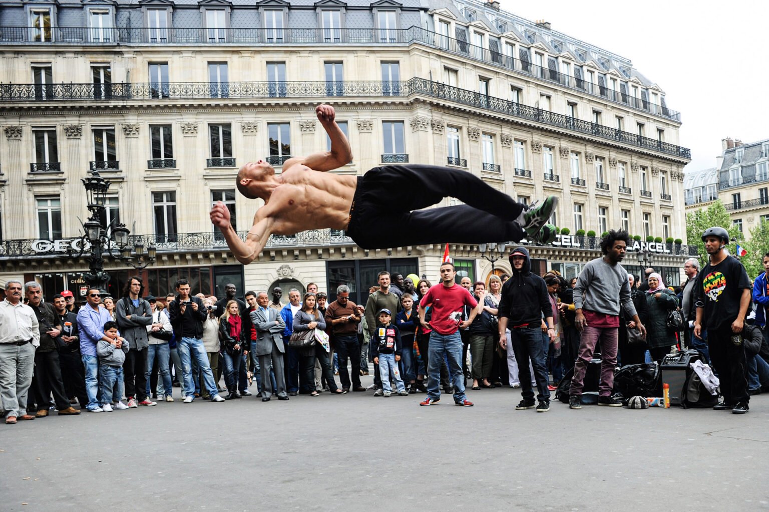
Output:
[[537,383],[537,400],[549,402],[548,367],[545,366],[544,340],[539,325],[536,327],[511,329],[510,341],[513,344],[515,360],[518,361],[521,397],[527,402],[534,401],[534,391],[531,388],[531,374],[528,370],[528,363],[531,361],[531,368],[534,370],[534,381]]

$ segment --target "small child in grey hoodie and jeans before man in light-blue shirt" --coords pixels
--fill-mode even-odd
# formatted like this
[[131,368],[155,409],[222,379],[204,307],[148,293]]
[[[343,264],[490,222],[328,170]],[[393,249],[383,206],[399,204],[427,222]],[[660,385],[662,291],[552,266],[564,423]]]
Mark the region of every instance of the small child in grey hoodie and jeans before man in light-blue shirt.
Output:
[[99,373],[99,402],[105,413],[112,412],[112,403],[115,409],[128,409],[120,400],[123,397],[123,363],[125,353],[128,352],[128,342],[118,333],[118,324],[107,322],[104,324],[104,335],[110,341],[99,340],[96,345],[98,355]]

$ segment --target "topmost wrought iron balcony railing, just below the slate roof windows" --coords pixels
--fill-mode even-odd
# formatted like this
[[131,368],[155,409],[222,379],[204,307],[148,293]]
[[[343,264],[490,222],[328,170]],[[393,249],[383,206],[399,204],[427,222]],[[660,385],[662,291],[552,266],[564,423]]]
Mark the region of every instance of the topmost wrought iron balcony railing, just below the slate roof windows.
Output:
[[[517,74],[555,83],[602,99],[641,110],[652,115],[681,122],[681,113],[657,105],[648,99],[646,92],[641,97],[631,95],[629,85],[620,82],[620,89],[614,90],[608,84],[588,82],[581,75],[572,76],[558,69],[544,68],[528,60],[506,55],[491,46],[485,49],[460,39],[431,32],[412,26],[402,29],[378,28],[87,28],[55,27],[41,31],[36,27],[0,26],[0,45],[201,45],[201,44],[248,44],[248,45],[302,45],[302,44],[411,44],[427,45],[441,52],[462,55],[467,59],[484,62],[507,69]],[[497,43],[498,44],[498,43]],[[624,85],[624,87],[622,86]],[[338,95],[334,89],[332,94]]]

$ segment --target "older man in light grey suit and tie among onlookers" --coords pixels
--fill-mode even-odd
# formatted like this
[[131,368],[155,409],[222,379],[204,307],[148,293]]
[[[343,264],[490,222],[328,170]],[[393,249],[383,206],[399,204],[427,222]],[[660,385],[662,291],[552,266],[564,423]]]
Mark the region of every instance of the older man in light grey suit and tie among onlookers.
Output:
[[288,400],[283,370],[283,330],[285,322],[278,310],[269,307],[267,292],[256,294],[258,306],[251,311],[251,323],[256,329],[256,341],[251,343],[251,354],[259,357],[261,369],[261,401],[269,402],[273,389],[270,370],[275,372],[278,400]]

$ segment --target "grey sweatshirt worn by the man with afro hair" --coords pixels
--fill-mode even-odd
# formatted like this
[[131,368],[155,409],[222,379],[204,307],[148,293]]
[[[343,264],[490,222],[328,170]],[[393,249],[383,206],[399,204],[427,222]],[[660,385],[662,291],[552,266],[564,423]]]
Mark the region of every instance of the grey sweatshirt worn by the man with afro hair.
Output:
[[628,316],[636,314],[630,295],[628,271],[619,263],[606,263],[603,258],[588,262],[577,278],[577,285],[574,286],[574,309],[582,308],[618,316],[620,304],[624,306]]

